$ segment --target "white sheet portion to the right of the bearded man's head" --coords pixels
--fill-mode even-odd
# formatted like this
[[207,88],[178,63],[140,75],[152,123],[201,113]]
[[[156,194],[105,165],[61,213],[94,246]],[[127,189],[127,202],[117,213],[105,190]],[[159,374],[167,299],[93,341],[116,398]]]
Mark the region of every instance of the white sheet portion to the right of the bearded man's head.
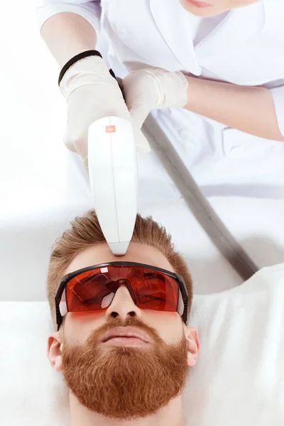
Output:
[[283,426],[284,263],[195,297],[191,324],[202,348],[184,393],[187,426]]

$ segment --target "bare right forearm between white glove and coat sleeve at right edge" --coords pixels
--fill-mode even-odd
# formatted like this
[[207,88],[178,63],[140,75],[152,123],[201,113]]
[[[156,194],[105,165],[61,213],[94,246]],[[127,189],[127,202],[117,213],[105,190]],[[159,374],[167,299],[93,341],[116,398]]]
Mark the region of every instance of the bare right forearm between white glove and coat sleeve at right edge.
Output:
[[186,109],[261,138],[284,141],[276,119],[273,97],[264,87],[187,77]]

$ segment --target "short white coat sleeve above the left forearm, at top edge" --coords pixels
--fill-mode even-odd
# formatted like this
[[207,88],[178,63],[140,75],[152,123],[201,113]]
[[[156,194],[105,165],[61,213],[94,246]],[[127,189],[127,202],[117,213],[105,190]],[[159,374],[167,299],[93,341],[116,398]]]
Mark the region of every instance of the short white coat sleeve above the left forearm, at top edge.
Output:
[[73,12],[87,19],[98,34],[101,11],[99,0],[35,0],[36,18],[40,30],[51,16],[61,12]]

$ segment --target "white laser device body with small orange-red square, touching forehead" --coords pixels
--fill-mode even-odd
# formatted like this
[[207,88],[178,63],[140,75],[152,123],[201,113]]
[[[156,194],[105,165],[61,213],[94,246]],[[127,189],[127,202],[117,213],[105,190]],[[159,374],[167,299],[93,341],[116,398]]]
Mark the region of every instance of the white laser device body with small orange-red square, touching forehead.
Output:
[[138,166],[130,121],[108,116],[89,126],[89,182],[92,200],[109,248],[123,256],[138,209]]

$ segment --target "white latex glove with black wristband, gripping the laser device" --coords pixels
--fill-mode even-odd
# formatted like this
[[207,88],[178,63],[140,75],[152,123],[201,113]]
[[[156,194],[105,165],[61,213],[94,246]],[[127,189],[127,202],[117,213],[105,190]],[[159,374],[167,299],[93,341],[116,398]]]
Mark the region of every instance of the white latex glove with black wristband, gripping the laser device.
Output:
[[[60,82],[60,90],[67,98],[67,126],[64,143],[78,153],[87,170],[89,126],[105,116],[118,116],[132,121],[119,84],[109,74],[99,56],[89,56],[75,62]],[[137,150],[150,151],[146,138],[133,124]]]

